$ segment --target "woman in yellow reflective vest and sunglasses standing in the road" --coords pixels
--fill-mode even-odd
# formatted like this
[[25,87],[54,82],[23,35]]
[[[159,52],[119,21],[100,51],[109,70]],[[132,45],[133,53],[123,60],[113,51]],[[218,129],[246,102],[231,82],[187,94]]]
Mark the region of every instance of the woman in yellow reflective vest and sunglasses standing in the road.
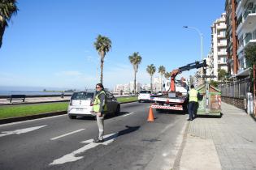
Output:
[[98,125],[98,138],[94,138],[93,142],[104,142],[104,117],[106,108],[106,92],[102,83],[96,85],[96,95],[93,100],[93,112],[96,113]]

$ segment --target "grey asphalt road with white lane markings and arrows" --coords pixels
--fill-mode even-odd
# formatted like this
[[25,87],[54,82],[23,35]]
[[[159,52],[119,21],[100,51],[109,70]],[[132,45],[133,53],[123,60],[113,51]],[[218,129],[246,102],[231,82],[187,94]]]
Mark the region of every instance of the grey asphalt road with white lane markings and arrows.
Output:
[[105,120],[106,142],[93,118],[67,115],[0,125],[0,169],[171,169],[182,142],[187,115],[154,113],[150,104],[121,105]]

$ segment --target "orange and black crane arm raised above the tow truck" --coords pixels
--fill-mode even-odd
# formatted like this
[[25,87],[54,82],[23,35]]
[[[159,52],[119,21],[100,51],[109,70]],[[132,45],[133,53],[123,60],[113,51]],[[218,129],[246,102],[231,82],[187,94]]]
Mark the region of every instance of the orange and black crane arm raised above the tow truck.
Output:
[[180,74],[185,70],[199,69],[199,68],[202,68],[202,67],[205,70],[206,66],[207,66],[206,60],[203,60],[203,61],[200,61],[200,62],[193,62],[193,63],[190,63],[186,66],[181,66],[178,69],[172,70],[171,74],[170,74],[171,75],[171,92],[176,91],[175,79],[176,79],[177,74]]

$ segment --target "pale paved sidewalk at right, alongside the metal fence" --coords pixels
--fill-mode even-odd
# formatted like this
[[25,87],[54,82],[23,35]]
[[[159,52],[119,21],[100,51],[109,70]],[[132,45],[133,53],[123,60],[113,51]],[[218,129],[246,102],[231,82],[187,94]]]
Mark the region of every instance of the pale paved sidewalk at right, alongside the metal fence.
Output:
[[221,118],[189,122],[179,168],[256,169],[256,122],[245,111],[222,103]]

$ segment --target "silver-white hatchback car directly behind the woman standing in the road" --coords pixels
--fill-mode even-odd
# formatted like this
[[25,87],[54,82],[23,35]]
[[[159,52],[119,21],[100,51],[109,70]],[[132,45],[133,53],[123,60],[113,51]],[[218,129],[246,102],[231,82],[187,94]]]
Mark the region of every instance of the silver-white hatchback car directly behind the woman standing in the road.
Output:
[[[77,116],[95,116],[93,111],[93,98],[95,93],[88,91],[74,92],[67,108],[67,115],[71,119]],[[106,91],[107,113],[118,115],[120,113],[120,104],[110,92]]]

